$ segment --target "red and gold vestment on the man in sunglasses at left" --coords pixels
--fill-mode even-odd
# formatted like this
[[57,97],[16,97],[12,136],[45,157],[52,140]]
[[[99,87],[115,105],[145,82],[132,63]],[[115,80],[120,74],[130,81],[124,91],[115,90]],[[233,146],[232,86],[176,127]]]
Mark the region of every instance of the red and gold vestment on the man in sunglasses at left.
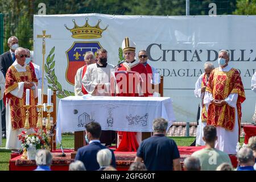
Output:
[[[23,90],[23,98],[18,98],[13,96],[10,92],[18,86],[18,82],[36,82],[38,79],[35,76],[35,72],[31,67],[27,65],[26,72],[18,72],[13,65],[7,70],[6,73],[6,84],[5,84],[5,97],[10,100],[10,115],[11,115],[11,126],[13,130],[20,129],[24,127],[26,119],[26,110],[24,105],[26,105],[26,88]],[[36,127],[37,113],[36,113],[36,101],[34,98],[34,90],[30,89],[30,113],[29,113],[29,123],[30,127]]]

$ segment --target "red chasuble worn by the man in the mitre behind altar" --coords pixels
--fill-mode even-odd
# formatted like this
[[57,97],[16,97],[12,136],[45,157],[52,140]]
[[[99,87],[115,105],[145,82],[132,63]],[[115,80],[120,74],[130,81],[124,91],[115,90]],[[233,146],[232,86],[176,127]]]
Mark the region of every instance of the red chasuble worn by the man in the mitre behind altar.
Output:
[[[126,65],[121,64],[120,67],[118,68],[118,71],[138,72],[141,75],[143,82],[144,81],[147,82],[147,79],[146,79],[147,70],[143,64],[138,63],[138,64],[135,64],[131,68],[127,68]],[[121,76],[119,74],[121,74]],[[131,73],[129,73],[129,74],[131,74]],[[121,79],[120,80],[117,79],[117,84],[119,81],[124,81],[126,79],[126,90],[123,90],[122,87],[119,88],[119,90],[121,90],[121,92],[117,93],[116,96],[126,96],[126,97],[139,97],[140,96],[139,93],[135,93],[135,88],[137,87],[137,85],[135,84],[136,78],[129,79],[129,76],[127,76],[127,74],[125,74],[125,73],[117,73],[117,75],[115,75],[116,78],[118,78],[118,76],[121,77]],[[123,78],[123,77],[126,77],[126,78]],[[133,86],[132,93],[128,93],[130,86]],[[125,92],[125,91],[127,91],[127,92]],[[143,93],[143,95],[141,97],[147,97],[147,96],[148,96],[148,93],[146,90],[146,92]],[[121,139],[121,142],[119,143],[119,146],[118,146],[117,150],[115,150],[115,151],[129,151],[129,152],[137,151],[139,144],[136,139],[136,132],[118,131],[118,135],[119,135],[119,139]]]

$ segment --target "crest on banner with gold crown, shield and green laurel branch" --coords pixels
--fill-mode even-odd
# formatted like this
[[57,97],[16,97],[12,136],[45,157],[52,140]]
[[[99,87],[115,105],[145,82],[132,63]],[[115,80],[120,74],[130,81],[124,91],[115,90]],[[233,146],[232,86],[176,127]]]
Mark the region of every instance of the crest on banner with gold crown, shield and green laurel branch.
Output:
[[[66,24],[64,26],[67,30],[72,32],[72,38],[75,39],[98,39],[102,37],[102,32],[108,28],[108,25],[104,28],[100,28],[101,20],[98,20],[96,26],[90,26],[88,18],[85,18],[86,22],[84,26],[78,26],[76,20],[73,19],[73,28],[68,28]],[[97,41],[85,42],[73,42],[72,46],[65,52],[67,55],[68,66],[65,71],[65,78],[69,84],[75,84],[75,75],[77,69],[85,65],[84,55],[87,51],[96,53],[97,49],[102,48],[101,44]],[[65,98],[68,96],[75,96],[75,93],[70,92],[62,88],[60,82],[55,75],[55,47],[51,48],[49,55],[47,56],[44,69],[46,71],[46,78],[48,81],[48,88],[57,91],[58,98]]]

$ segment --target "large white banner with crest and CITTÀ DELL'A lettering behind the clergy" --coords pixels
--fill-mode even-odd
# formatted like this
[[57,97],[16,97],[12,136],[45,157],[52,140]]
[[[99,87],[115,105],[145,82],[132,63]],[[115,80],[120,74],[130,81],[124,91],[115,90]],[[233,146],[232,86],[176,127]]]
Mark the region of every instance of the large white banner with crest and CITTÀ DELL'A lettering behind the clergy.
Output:
[[174,101],[176,121],[196,121],[200,101],[193,95],[195,82],[204,72],[205,61],[217,67],[218,51],[227,49],[229,64],[240,70],[246,90],[242,122],[251,122],[255,108],[250,83],[256,70],[256,16],[35,15],[35,63],[41,67],[42,38],[37,35],[43,30],[51,35],[46,38],[48,86],[57,88],[59,97],[72,94],[76,69],[84,64],[86,51],[105,48],[108,63],[116,65],[121,59],[122,40],[128,36],[137,44],[136,56],[146,49],[148,63],[164,76],[164,96]]

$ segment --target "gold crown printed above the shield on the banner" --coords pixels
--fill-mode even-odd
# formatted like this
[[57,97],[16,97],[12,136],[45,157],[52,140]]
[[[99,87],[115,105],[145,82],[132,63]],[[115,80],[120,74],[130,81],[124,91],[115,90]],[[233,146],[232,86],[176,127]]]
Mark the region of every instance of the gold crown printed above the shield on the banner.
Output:
[[98,20],[98,23],[96,24],[96,26],[92,27],[89,25],[88,23],[88,18],[85,18],[86,22],[84,24],[84,26],[78,26],[76,24],[76,20],[72,19],[72,22],[75,24],[75,26],[70,29],[67,27],[66,24],[64,24],[64,26],[67,28],[67,30],[72,32],[72,38],[76,38],[76,39],[97,39],[97,38],[101,38],[101,34],[103,31],[105,31],[109,25],[106,26],[105,29],[101,29],[100,28],[100,22],[101,19]]

